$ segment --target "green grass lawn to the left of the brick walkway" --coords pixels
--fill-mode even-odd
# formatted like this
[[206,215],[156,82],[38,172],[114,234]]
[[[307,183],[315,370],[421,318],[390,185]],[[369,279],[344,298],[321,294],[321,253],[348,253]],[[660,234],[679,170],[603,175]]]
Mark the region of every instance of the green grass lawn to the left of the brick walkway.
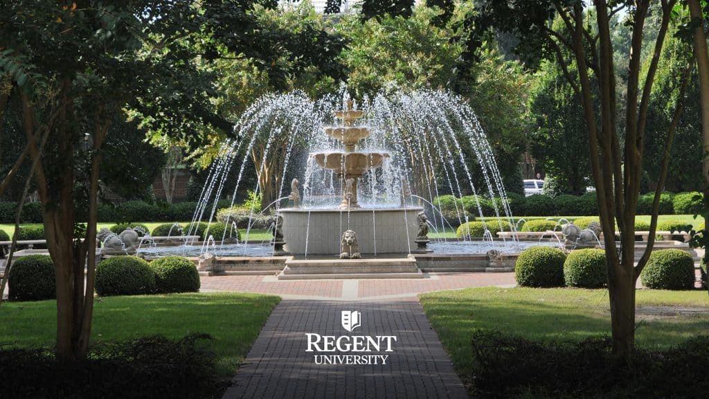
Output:
[[[232,376],[279,297],[246,293],[187,293],[96,299],[91,342],[161,334],[177,339],[190,332],[213,337],[221,377]],[[4,302],[0,345],[52,347],[57,328],[55,300]]]

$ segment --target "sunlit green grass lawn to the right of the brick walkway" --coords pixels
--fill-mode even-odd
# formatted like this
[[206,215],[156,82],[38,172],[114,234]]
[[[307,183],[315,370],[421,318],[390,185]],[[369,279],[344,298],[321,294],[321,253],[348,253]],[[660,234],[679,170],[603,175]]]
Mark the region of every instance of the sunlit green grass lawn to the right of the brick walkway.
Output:
[[[610,335],[608,290],[469,288],[419,297],[457,373],[464,379],[472,370],[470,337],[477,329],[544,341],[581,341]],[[706,310],[700,315],[639,317],[635,337],[640,346],[665,349],[709,333],[706,291],[638,290],[637,305],[641,309],[676,306]]]

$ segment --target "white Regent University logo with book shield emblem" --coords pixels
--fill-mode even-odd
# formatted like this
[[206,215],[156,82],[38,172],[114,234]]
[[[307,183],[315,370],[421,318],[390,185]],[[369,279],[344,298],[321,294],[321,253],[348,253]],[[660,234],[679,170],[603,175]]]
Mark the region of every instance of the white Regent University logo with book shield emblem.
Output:
[[[362,326],[362,312],[343,310],[340,324],[347,332]],[[306,352],[315,352],[315,364],[386,364],[396,335],[320,335],[306,333]]]

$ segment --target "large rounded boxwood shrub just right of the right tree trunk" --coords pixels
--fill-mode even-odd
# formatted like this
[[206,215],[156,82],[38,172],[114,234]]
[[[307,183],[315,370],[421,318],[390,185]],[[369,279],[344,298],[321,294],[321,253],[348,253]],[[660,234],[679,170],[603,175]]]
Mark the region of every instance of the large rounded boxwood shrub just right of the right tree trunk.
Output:
[[694,260],[681,249],[654,251],[640,273],[640,280],[647,288],[690,290],[694,288]]

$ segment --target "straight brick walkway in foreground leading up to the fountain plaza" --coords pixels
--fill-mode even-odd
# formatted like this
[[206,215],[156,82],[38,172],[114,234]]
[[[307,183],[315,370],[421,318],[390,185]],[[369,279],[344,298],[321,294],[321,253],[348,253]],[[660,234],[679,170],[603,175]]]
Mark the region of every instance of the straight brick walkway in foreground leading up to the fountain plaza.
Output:
[[[362,312],[347,332],[342,310]],[[316,364],[306,333],[396,335],[386,364]],[[334,354],[346,354],[335,352]],[[360,353],[361,354],[361,353]],[[232,398],[467,398],[415,298],[397,301],[283,300],[224,394]]]

